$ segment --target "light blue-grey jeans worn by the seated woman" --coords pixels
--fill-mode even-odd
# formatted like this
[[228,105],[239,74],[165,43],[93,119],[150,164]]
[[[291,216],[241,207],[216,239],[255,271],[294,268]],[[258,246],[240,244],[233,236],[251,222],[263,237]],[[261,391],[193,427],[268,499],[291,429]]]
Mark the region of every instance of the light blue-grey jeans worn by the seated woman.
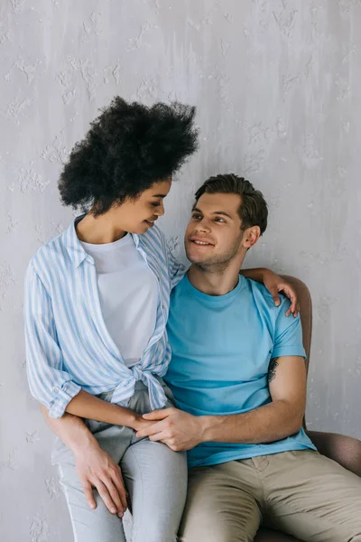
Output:
[[[160,379],[162,382],[162,379]],[[164,391],[172,406],[171,390]],[[110,394],[111,395],[111,394]],[[109,400],[109,394],[100,396]],[[137,382],[129,408],[150,411],[148,389]],[[133,515],[132,542],[176,542],[187,493],[185,453],[172,452],[162,443],[138,439],[133,429],[87,420],[98,443],[122,469]],[[52,453],[69,507],[75,542],[125,542],[123,520],[112,515],[95,495],[97,508],[89,509],[75,472],[73,454],[58,439]]]

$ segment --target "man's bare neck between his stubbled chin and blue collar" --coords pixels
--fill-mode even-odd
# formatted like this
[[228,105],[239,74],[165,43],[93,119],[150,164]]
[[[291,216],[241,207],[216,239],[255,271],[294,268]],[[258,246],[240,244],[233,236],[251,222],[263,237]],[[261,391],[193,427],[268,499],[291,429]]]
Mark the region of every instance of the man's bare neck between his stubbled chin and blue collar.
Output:
[[188,280],[199,292],[208,295],[225,295],[236,288],[239,280],[239,262],[232,262],[223,271],[190,266]]

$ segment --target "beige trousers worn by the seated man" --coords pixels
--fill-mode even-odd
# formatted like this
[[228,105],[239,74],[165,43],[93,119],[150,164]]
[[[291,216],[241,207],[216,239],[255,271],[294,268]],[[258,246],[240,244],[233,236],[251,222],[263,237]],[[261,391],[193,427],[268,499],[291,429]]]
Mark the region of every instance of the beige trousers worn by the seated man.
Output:
[[361,478],[313,450],[190,469],[181,542],[248,542],[261,522],[306,542],[359,542]]

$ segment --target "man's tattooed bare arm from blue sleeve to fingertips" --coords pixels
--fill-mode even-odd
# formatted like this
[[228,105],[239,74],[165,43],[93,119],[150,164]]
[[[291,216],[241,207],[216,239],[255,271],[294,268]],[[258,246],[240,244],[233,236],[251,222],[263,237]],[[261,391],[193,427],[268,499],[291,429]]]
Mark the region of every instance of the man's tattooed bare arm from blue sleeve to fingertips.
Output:
[[138,431],[172,450],[190,450],[203,442],[261,444],[281,440],[301,429],[306,403],[306,369],[301,356],[282,356],[270,363],[272,402],[230,416],[191,416],[177,408],[156,410],[146,420],[160,420]]

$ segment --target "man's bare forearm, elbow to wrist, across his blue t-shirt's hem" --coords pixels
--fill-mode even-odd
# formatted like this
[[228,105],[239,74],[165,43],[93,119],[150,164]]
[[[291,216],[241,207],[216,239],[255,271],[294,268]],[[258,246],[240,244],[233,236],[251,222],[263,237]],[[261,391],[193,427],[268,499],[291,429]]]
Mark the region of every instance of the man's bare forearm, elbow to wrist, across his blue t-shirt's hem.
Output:
[[274,401],[245,414],[199,416],[201,442],[262,444],[294,435],[303,413],[288,401]]

